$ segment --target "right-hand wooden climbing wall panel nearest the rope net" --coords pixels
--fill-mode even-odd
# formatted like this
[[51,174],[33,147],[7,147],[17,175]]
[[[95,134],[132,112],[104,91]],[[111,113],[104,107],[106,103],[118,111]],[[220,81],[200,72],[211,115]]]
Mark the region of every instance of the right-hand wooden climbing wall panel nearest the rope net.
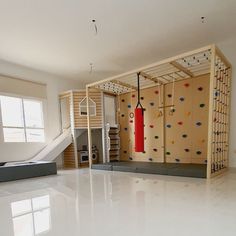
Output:
[[165,155],[171,163],[206,163],[209,75],[165,85]]

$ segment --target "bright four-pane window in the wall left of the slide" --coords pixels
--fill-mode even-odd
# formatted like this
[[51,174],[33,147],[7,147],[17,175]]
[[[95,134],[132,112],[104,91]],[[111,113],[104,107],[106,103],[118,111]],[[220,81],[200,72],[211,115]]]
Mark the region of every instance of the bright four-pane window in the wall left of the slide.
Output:
[[42,102],[0,96],[4,142],[44,142]]

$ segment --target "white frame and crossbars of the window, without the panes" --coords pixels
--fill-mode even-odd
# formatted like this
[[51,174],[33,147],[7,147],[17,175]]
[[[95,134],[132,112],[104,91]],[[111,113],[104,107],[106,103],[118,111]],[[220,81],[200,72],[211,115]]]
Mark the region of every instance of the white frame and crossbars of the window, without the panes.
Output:
[[[5,97],[12,97],[12,98],[18,98],[21,100],[21,108],[22,108],[22,115],[23,115],[23,126],[22,127],[17,127],[17,126],[4,126],[3,125],[3,119],[2,119],[2,107],[1,107],[1,101],[0,101],[0,142],[2,143],[45,143],[46,142],[46,132],[45,132],[45,101],[43,99],[39,98],[32,98],[32,97],[25,97],[21,95],[16,95],[16,94],[9,94],[9,93],[0,93],[0,97],[5,96]],[[24,106],[24,101],[32,101],[32,102],[39,102],[41,106],[41,119],[42,119],[42,127],[31,127],[31,126],[26,126],[26,120],[25,120],[25,106]],[[19,142],[8,142],[5,141],[4,138],[4,128],[6,129],[21,129],[24,131],[24,141],[19,141]],[[27,139],[27,130],[28,129],[35,129],[35,130],[42,130],[44,133],[44,140],[43,141],[28,141]]]

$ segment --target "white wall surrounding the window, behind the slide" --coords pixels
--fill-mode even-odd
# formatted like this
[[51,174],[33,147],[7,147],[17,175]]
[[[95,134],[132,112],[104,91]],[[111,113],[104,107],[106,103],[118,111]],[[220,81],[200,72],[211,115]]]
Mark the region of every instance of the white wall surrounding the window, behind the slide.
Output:
[[[58,94],[69,89],[79,89],[78,81],[62,79],[41,71],[0,61],[0,74],[47,84],[46,136],[47,142],[60,133]],[[0,162],[26,160],[40,151],[45,144],[0,143]]]

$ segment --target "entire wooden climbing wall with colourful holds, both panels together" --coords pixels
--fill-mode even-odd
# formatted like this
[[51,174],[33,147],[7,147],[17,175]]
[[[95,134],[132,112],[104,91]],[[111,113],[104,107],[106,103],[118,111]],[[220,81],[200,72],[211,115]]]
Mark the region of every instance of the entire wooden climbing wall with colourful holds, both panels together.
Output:
[[[141,90],[145,109],[144,153],[134,152],[133,112],[137,93],[119,96],[121,160],[206,164],[209,74],[178,81],[174,86],[174,93],[172,83],[164,85],[164,93],[159,86]],[[159,109],[163,100],[165,112]],[[160,111],[164,116],[159,116]]]

